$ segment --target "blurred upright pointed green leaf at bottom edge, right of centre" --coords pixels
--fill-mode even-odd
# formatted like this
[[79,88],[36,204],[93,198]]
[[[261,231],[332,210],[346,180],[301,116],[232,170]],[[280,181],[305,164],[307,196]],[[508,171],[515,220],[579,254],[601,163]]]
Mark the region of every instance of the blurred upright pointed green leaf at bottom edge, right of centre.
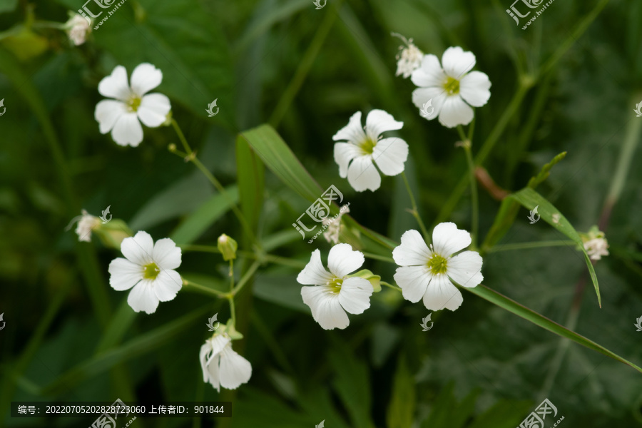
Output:
[[386,418],[388,428],[411,428],[416,405],[414,379],[403,354],[399,355],[391,396]]

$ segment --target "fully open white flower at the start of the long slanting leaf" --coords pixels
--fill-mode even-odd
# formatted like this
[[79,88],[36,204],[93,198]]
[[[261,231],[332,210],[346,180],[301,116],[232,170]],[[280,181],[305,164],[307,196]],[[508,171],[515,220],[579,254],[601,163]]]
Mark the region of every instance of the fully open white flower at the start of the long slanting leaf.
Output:
[[392,251],[397,265],[394,280],[402,288],[404,298],[419,302],[423,297],[429,310],[456,310],[462,305],[462,293],[452,282],[462,287],[476,287],[481,275],[481,256],[463,250],[471,243],[466,230],[457,229],[454,223],[439,223],[432,231],[434,244],[427,247],[417,230],[402,235],[402,243]]

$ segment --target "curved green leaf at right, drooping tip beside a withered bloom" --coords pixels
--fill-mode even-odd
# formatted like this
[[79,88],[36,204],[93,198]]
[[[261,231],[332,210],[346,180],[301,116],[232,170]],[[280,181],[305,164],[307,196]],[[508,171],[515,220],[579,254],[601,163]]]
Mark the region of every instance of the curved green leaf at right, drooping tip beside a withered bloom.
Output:
[[[593,280],[593,287],[595,287],[595,292],[598,297],[598,305],[602,307],[602,302],[600,297],[600,287],[598,285],[597,276],[595,275],[595,269],[593,269],[593,263],[591,263],[591,259],[588,258],[588,253],[586,253],[586,250],[584,249],[584,243],[582,243],[582,238],[580,238],[579,233],[577,233],[577,231],[571,225],[569,220],[566,220],[566,217],[564,217],[564,215],[562,215],[559,212],[559,210],[554,207],[552,203],[546,200],[544,196],[540,195],[539,193],[537,193],[535,190],[531,188],[521,189],[519,190],[519,192],[509,195],[508,198],[516,200],[528,210],[533,210],[535,207],[538,207],[537,212],[539,213],[539,215],[541,215],[542,220],[544,220],[546,223],[549,223],[549,225],[559,230],[559,232],[564,233],[564,235],[571,238],[571,240],[573,240],[578,245],[582,253],[584,253],[584,260],[586,260],[586,267],[588,267],[588,272],[591,274],[591,280]],[[558,218],[556,218],[556,221],[553,220],[553,215],[559,216]]]

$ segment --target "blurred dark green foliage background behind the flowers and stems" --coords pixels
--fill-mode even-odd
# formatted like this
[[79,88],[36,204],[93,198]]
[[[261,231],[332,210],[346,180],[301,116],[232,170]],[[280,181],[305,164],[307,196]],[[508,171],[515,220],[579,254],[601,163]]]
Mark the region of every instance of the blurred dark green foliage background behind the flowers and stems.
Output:
[[[191,240],[212,245],[227,233],[241,243],[235,217],[212,214],[218,200],[208,180],[167,151],[179,143],[171,128],[145,128],[138,148],[98,132],[98,82],[118,64],[131,73],[143,62],[161,68],[155,91],[170,98],[199,158],[230,190],[236,135],[270,121],[322,188],[342,191],[352,218],[398,241],[417,228],[402,179],[355,193],[332,159],[332,135],[352,113],[382,108],[404,122],[398,135],[409,143],[406,170],[424,222],[470,230],[468,189],[447,208],[467,173],[459,137],[417,113],[414,85],[394,76],[400,41],[390,32],[439,57],[462,46],[492,82],[476,111],[473,153],[496,139],[483,165],[501,188],[523,188],[567,151],[538,191],[586,231],[598,224],[616,171],[632,165],[603,228],[611,255],[596,264],[602,308],[589,283],[574,330],[639,365],[641,1],[555,1],[523,31],[506,14],[510,0],[330,0],[319,10],[312,0],[128,0],[73,46],[44,23],[63,23],[81,1],[0,0],[0,425],[93,420],[12,419],[11,401],[121,398],[233,402],[232,419],[139,418],[141,428],[312,428],[322,419],[328,428],[514,428],[548,397],[564,427],[642,426],[635,370],[477,296],[464,292],[459,310],[434,314],[422,332],[429,311],[384,290],[350,327],[328,332],[302,303],[298,270],[277,265],[260,268],[239,309],[245,340],[235,349],[252,363],[252,379],[218,394],[202,382],[198,350],[207,318],[227,320],[227,305],[180,292],[155,314],[135,315],[126,293],[108,286],[108,263],[120,253],[64,230],[81,208],[100,215],[111,205],[114,218],[159,239],[209,203],[203,233]],[[214,99],[220,113],[208,118]],[[618,163],[627,138],[633,151]],[[269,170],[263,197],[258,235],[271,253],[305,263],[320,248],[326,260],[325,240],[310,245],[291,227],[309,203]],[[483,188],[479,202],[483,238],[499,202]],[[501,244],[563,238],[526,215],[519,211]],[[365,267],[392,282],[393,265]],[[220,255],[183,252],[179,272],[215,286],[227,265]],[[485,285],[564,325],[586,281],[572,247],[488,253],[483,273]]]

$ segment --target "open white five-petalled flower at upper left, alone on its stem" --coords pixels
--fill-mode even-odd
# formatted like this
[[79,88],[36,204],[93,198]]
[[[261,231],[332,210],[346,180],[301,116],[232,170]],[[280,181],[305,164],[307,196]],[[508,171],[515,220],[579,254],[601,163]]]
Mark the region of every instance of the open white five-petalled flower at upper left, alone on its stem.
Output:
[[149,63],[142,63],[131,73],[131,86],[127,71],[116,66],[111,75],[98,83],[98,92],[116,98],[103,100],[96,105],[94,117],[101,133],[111,131],[111,138],[120,146],[136,147],[143,141],[143,127],[156,128],[165,122],[171,110],[169,98],[162,93],[148,93],[161,84],[163,73]]

